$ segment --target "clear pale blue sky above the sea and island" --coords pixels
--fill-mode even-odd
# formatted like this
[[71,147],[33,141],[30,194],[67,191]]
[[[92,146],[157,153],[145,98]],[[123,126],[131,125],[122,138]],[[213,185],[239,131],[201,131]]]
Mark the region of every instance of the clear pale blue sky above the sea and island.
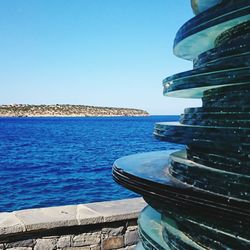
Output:
[[200,100],[162,95],[189,70],[173,55],[189,0],[10,0],[0,8],[0,104],[82,104],[175,115]]

